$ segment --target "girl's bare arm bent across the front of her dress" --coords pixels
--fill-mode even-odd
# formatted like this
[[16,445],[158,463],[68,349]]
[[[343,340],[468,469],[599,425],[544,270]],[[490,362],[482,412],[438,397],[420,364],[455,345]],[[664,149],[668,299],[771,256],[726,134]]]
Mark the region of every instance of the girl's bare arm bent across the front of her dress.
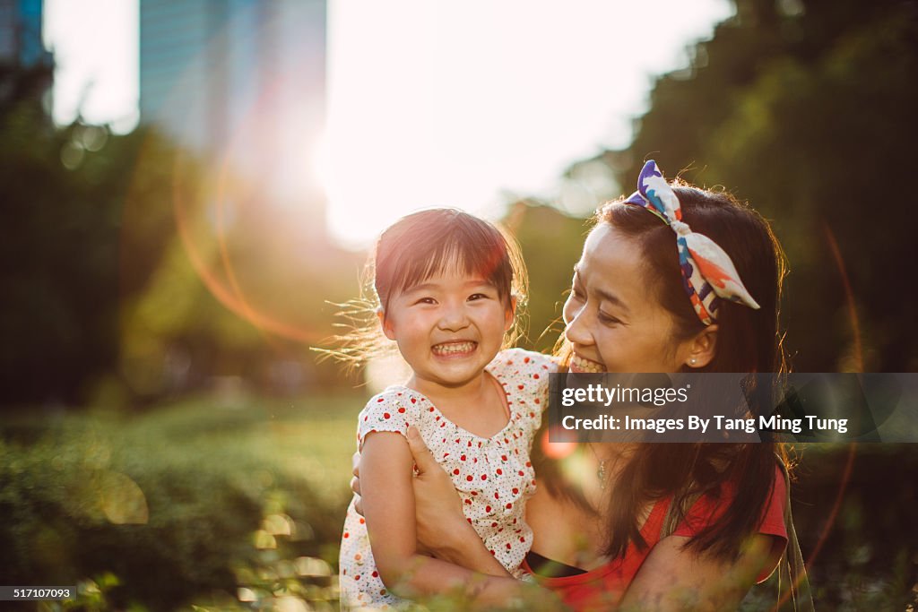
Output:
[[[498,573],[483,576],[418,553],[411,467],[411,451],[401,434],[375,432],[364,440],[360,461],[364,517],[376,566],[386,586],[397,595],[409,597],[460,588],[476,603],[491,605],[506,605],[519,597],[521,584],[506,572],[503,577]],[[439,466],[435,467],[442,473]],[[445,473],[443,476],[449,481]],[[455,496],[454,489],[451,495]],[[471,529],[471,539],[484,549],[475,530],[465,518],[462,522]],[[500,565],[493,558],[490,561]],[[502,566],[500,569],[503,571]]]

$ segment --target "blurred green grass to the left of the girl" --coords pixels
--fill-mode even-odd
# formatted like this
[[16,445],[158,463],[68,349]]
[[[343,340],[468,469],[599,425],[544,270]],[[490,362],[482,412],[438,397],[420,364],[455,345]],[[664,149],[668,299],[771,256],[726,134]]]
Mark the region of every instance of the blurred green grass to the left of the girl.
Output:
[[7,415],[3,577],[77,584],[112,573],[112,607],[172,608],[234,594],[256,574],[263,584],[296,559],[333,574],[365,395]]

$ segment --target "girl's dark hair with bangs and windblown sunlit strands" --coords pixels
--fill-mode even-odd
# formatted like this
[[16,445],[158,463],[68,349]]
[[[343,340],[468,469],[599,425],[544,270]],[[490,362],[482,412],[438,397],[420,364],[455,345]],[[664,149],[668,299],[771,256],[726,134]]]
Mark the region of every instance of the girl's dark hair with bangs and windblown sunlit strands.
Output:
[[380,332],[376,311],[385,317],[391,299],[439,273],[480,276],[514,309],[515,324],[504,338],[509,347],[519,334],[528,279],[516,240],[484,219],[455,208],[431,208],[401,217],[386,228],[364,270],[364,297],[341,311],[348,332],[323,351],[352,365],[393,351]]

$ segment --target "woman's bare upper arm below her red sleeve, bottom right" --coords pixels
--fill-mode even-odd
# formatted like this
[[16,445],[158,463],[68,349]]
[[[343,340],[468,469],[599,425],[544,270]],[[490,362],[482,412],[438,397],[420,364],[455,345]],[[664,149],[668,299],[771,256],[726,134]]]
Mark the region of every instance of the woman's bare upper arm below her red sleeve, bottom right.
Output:
[[684,545],[689,538],[669,536],[650,551],[621,600],[621,610],[735,610],[767,567],[774,567],[776,538],[754,535],[735,562]]

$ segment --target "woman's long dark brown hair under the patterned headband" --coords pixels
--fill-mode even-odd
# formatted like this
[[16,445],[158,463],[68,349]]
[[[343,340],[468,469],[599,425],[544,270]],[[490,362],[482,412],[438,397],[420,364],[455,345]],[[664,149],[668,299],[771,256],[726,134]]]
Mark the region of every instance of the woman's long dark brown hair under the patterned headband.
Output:
[[[713,239],[730,255],[740,278],[759,306],[721,300],[717,318],[716,353],[710,363],[693,372],[784,373],[785,360],[778,330],[778,305],[786,273],[783,251],[767,221],[755,210],[727,193],[711,192],[675,182],[682,220],[692,231]],[[677,329],[674,345],[704,329],[682,286],[676,236],[659,217],[641,206],[622,200],[599,208],[595,224],[608,223],[635,239],[642,250],[644,273],[654,285],[660,304],[673,317]],[[560,348],[562,358],[569,348]],[[687,370],[688,371],[688,370]],[[575,487],[563,479],[559,466],[535,445],[536,473],[550,492],[580,506],[589,505]],[[606,552],[625,554],[630,542],[645,547],[640,515],[646,504],[673,496],[682,511],[698,495],[719,496],[727,483],[742,486],[720,519],[689,540],[696,551],[711,551],[733,559],[745,537],[754,532],[774,486],[775,444],[639,444],[627,458],[610,489],[610,521]]]

